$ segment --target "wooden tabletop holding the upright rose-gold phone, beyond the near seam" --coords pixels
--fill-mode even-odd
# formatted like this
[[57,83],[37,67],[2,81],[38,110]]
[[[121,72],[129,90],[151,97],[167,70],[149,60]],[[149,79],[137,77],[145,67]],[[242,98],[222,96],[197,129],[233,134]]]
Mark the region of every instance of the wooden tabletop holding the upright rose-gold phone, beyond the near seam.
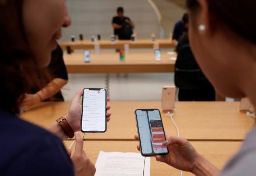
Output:
[[[134,110],[140,108],[161,109],[161,102],[110,102],[111,121],[107,132],[86,134],[87,140],[134,140],[137,134]],[[241,141],[253,128],[255,120],[239,112],[239,102],[176,102],[175,116],[180,134],[188,140]],[[22,117],[46,127],[60,116],[67,114],[69,103],[42,103]],[[162,113],[165,131],[176,135],[176,130]]]

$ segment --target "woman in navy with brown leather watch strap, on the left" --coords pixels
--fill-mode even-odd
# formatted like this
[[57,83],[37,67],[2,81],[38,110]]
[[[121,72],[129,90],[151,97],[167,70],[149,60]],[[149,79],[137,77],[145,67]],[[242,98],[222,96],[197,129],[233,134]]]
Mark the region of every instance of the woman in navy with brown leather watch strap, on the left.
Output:
[[[62,140],[80,130],[83,90],[76,93],[68,114],[56,117],[47,130],[19,118],[25,93],[36,75],[50,63],[61,37],[71,24],[65,0],[0,0],[0,175],[92,176],[95,167],[76,134],[72,157]],[[44,86],[44,85],[41,85]],[[107,109],[110,107],[107,106]],[[64,116],[65,115],[65,116]],[[107,113],[107,120],[110,120]],[[65,124],[63,124],[65,122]]]

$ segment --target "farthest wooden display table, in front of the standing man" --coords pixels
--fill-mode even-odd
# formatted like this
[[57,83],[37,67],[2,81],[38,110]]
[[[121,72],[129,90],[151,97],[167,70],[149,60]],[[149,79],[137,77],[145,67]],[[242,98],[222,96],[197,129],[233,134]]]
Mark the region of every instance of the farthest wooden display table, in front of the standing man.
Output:
[[92,43],[90,40],[76,40],[75,43],[71,41],[66,41],[60,43],[60,47],[65,50],[67,46],[70,46],[71,49],[94,49],[95,44],[99,44],[101,49],[116,49],[124,48],[125,44],[129,45],[129,48],[154,48],[154,44],[159,45],[159,48],[174,48],[174,44],[170,39],[157,39],[155,42],[152,42],[151,39],[138,39],[135,42],[131,40],[116,40],[112,43],[109,40],[100,40]]

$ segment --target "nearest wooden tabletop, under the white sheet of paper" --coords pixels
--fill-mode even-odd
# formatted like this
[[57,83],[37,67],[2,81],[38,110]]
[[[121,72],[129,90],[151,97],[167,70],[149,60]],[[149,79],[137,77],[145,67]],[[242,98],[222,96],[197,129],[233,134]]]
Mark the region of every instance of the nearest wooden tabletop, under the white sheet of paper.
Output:
[[[67,147],[72,141],[64,141]],[[191,142],[197,152],[208,159],[219,169],[222,169],[225,163],[239,149],[241,142]],[[136,150],[137,141],[84,141],[84,151],[90,160],[95,164],[99,151],[104,152],[138,152]],[[72,148],[74,152],[75,145]],[[160,163],[151,158],[151,176],[179,175],[179,171],[165,163]],[[192,175],[184,172],[184,175]]]

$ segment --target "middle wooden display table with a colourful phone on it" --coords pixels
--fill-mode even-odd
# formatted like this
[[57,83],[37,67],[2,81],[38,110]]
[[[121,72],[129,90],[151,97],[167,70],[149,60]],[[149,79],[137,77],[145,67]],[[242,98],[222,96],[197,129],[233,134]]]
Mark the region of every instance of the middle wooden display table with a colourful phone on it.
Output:
[[161,61],[155,61],[154,53],[129,53],[125,61],[119,61],[119,53],[91,54],[91,62],[85,63],[83,53],[64,54],[68,73],[168,73],[174,72],[175,55],[162,53]]

